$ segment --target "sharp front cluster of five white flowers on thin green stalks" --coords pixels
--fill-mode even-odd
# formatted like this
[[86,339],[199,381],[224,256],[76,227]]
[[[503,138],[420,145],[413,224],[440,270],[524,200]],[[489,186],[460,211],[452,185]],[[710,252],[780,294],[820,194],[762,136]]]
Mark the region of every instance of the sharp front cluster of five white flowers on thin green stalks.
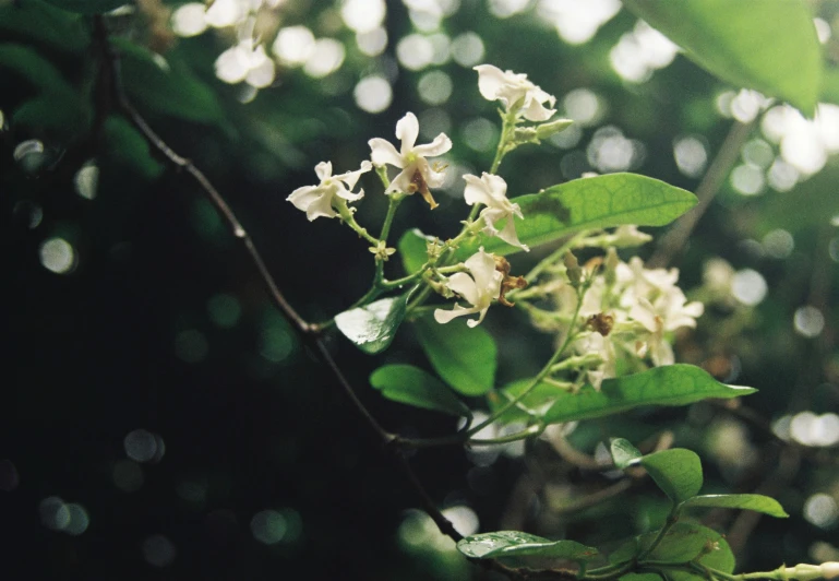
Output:
[[[475,220],[470,217],[466,221],[464,232],[456,240],[446,242],[445,249],[454,250],[462,239],[476,236],[480,232],[488,237],[498,237],[511,246],[529,251],[528,246],[518,238],[516,232],[516,222],[525,220],[522,208],[507,199],[507,183],[501,176],[495,175],[494,170],[505,152],[523,143],[538,143],[541,137],[567,127],[568,121],[560,120],[542,123],[536,128],[525,128],[529,131],[529,137],[523,139],[514,131],[516,124],[522,119],[549,120],[555,110],[546,107],[546,104],[553,106],[556,102],[555,97],[529,82],[527,75],[511,71],[503,72],[491,64],[482,64],[475,69],[478,71],[478,88],[481,95],[490,100],[501,100],[506,106],[507,116],[504,118],[505,129],[499,144],[500,153],[493,163],[493,173],[482,173],[480,177],[470,174],[463,176],[466,182],[464,201],[476,209],[471,214]],[[332,164],[321,162],[315,167],[320,183],[298,188],[287,200],[305,212],[310,221],[319,217],[340,217],[372,245],[370,251],[376,256],[377,263],[381,263],[395,252],[393,248],[387,247],[386,240],[392,214],[388,214],[382,239],[379,239],[356,222],[355,209],[350,209],[348,203],[356,202],[364,195],[362,189],[358,192],[352,190],[361,174],[375,167],[384,185],[384,193],[391,198],[388,212],[395,211],[401,199],[416,192],[422,195],[432,210],[436,208],[438,203],[431,189],[443,186],[445,167],[432,165],[429,158],[451,151],[452,140],[445,133],[440,133],[431,143],[418,145],[418,137],[419,121],[412,112],[407,112],[396,123],[396,138],[400,141],[398,150],[384,139],[371,139],[369,141],[370,159],[362,162],[359,169],[333,176]],[[388,179],[387,166],[398,169],[392,179]],[[477,210],[479,208],[480,212]],[[469,327],[475,327],[483,320],[492,303],[513,306],[513,303],[505,298],[505,293],[511,292],[512,295],[512,292],[527,285],[523,277],[510,275],[511,265],[506,260],[484,252],[483,247],[459,265],[451,264],[453,256],[451,253],[442,259],[444,262],[438,264],[441,257],[435,252],[439,252],[443,246],[438,246],[435,242],[433,248],[429,248],[429,261],[420,273],[427,273],[423,281],[444,296],[457,295],[470,305],[463,307],[456,303],[452,310],[436,309],[434,318],[440,323],[447,323],[456,317],[478,315],[477,319],[467,321]],[[456,270],[458,272],[454,272]],[[454,273],[446,276],[450,272]],[[381,272],[379,276],[381,278]]]

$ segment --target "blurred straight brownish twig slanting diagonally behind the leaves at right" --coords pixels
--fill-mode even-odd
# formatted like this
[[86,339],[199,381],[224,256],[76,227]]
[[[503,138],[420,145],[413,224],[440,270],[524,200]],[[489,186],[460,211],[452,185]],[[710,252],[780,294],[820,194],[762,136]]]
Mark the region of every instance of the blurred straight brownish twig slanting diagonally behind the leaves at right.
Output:
[[720,187],[731,171],[732,166],[738,161],[740,155],[740,147],[748,138],[752,129],[755,127],[757,118],[747,122],[741,123],[735,121],[726,141],[720,145],[719,152],[705,173],[699,185],[696,187],[696,197],[699,199],[699,203],[696,208],[687,212],[682,216],[673,226],[673,228],[661,237],[661,240],[656,249],[656,252],[647,261],[649,268],[660,268],[668,265],[673,258],[682,250],[687,238],[691,237],[699,218],[703,217],[705,211],[714,201]]

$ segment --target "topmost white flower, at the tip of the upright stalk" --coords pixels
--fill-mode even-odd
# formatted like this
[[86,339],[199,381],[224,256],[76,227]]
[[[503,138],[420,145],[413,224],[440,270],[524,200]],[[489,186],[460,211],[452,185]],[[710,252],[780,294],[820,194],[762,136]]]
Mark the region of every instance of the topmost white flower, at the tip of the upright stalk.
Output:
[[502,71],[492,64],[479,64],[475,70],[478,71],[478,90],[483,98],[502,102],[507,111],[515,108],[517,116],[529,121],[547,121],[556,112],[556,109],[548,109],[543,105],[550,103],[553,107],[556,97],[528,81],[526,74]]

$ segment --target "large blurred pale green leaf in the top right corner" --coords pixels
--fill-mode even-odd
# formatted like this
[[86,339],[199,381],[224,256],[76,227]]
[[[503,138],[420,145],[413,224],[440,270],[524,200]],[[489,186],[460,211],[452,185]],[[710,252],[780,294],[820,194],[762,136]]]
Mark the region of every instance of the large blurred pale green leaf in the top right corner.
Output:
[[804,2],[624,0],[624,4],[723,81],[779,97],[813,115],[822,83],[822,48]]

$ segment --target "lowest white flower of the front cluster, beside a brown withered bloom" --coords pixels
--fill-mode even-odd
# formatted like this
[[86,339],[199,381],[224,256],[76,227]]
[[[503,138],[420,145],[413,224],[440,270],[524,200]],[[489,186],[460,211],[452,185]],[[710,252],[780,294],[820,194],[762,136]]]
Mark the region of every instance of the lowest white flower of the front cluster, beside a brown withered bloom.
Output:
[[448,277],[448,288],[464,297],[472,306],[462,307],[455,303],[453,310],[436,309],[434,319],[439,323],[447,323],[455,317],[480,312],[478,319],[466,321],[470,328],[483,321],[490,305],[501,294],[501,282],[504,275],[495,270],[495,259],[483,251],[483,247],[464,262],[469,274],[456,272]]

